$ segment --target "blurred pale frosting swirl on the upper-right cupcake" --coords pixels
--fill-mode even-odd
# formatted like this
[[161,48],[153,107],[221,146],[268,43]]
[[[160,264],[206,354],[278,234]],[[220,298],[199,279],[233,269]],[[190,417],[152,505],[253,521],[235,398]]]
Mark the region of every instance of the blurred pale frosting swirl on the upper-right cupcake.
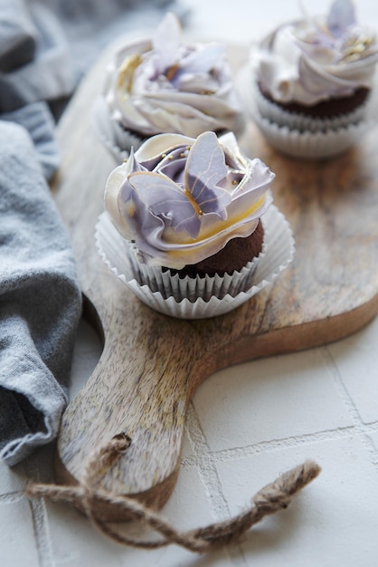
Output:
[[252,53],[262,91],[307,106],[370,89],[377,62],[375,34],[356,24],[351,0],[335,0],[326,17],[281,25]]

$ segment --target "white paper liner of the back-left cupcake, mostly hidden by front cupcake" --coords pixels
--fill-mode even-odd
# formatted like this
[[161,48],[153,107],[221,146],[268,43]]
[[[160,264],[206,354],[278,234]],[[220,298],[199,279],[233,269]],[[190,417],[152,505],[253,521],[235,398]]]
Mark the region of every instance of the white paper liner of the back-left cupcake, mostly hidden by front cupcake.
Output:
[[126,130],[117,120],[114,120],[110,115],[107,102],[100,96],[93,104],[92,127],[99,141],[118,163],[128,158],[131,148],[136,151],[146,139]]

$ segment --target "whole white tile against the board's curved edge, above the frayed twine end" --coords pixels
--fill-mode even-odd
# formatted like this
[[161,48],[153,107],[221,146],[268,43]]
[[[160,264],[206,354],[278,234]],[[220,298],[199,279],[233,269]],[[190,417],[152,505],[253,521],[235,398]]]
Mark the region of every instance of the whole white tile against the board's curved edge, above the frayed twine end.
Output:
[[197,391],[194,408],[214,451],[352,425],[321,350],[218,372]]

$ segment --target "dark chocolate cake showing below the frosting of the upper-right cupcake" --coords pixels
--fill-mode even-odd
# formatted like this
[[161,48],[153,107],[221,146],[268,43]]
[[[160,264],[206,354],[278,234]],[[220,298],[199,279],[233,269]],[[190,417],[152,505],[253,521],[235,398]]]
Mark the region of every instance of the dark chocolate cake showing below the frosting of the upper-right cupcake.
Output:
[[313,106],[304,106],[298,102],[278,102],[275,101],[259,83],[261,94],[270,102],[277,104],[281,109],[288,112],[295,112],[297,114],[304,114],[314,118],[333,118],[340,114],[348,114],[353,112],[356,108],[367,101],[370,90],[364,87],[354,91],[354,94],[347,97],[337,97],[329,99],[328,101],[317,102]]

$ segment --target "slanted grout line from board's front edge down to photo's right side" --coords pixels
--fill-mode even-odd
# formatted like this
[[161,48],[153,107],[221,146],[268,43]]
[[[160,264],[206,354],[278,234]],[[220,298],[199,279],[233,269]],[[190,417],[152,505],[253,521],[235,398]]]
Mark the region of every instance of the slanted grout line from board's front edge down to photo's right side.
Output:
[[358,409],[354,405],[354,400],[352,399],[352,396],[349,394],[349,391],[345,386],[344,380],[340,374],[340,371],[337,368],[337,364],[335,362],[335,359],[331,351],[328,349],[326,345],[322,347],[321,351],[326,360],[328,368],[331,371],[331,375],[335,381],[335,385],[340,393],[340,396],[345,403],[345,407],[349,414],[349,417],[353,421],[354,429],[358,431],[358,433],[362,437],[364,447],[369,452],[373,466],[375,466],[376,470],[378,471],[378,449],[374,446],[373,440],[369,437],[367,433],[367,430],[372,430],[372,427],[371,426],[367,427],[364,424],[364,421],[361,418]]

